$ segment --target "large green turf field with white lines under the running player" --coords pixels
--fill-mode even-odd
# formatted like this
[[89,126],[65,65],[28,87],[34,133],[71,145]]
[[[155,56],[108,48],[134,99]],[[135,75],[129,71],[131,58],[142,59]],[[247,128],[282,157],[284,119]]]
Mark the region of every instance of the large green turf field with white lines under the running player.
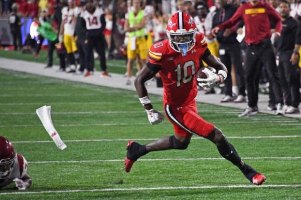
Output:
[[[147,143],[173,134],[168,121],[149,125],[135,92],[6,70],[0,85],[0,135],[26,157],[33,179],[26,191],[14,184],[1,190],[0,199],[301,199],[299,119],[262,113],[240,119],[239,109],[198,104],[240,156],[266,175],[263,186],[254,187],[197,137],[187,150],[149,153],[125,173],[128,139]],[[162,97],[150,97],[163,110]],[[63,151],[35,114],[43,105],[51,106],[67,144]]]

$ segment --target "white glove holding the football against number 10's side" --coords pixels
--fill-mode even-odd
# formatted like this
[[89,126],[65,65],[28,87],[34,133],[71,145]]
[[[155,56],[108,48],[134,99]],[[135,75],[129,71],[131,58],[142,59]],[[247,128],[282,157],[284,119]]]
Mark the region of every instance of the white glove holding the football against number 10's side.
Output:
[[209,70],[208,68],[205,68],[202,70],[202,72],[204,72],[208,77],[206,79],[202,79],[202,78],[197,79],[198,82],[201,82],[198,83],[199,86],[203,88],[210,88],[210,87],[217,86],[220,83],[222,83],[227,77],[226,72],[223,70],[219,70],[218,74],[216,74],[213,71]]

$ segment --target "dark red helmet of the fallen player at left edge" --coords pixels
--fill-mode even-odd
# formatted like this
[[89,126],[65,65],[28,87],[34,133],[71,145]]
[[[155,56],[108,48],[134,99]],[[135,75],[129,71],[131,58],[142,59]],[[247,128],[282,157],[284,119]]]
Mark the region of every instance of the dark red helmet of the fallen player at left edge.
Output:
[[9,177],[14,168],[16,156],[13,144],[5,137],[0,136],[0,179]]

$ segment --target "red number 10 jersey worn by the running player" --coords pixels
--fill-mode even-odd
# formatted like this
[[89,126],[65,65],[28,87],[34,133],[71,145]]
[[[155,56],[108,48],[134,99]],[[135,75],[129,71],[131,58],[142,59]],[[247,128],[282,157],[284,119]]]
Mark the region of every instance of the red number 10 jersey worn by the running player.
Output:
[[[207,51],[206,51],[207,50]],[[164,85],[164,103],[170,106],[181,107],[189,104],[198,93],[196,72],[204,53],[210,55],[203,33],[197,33],[196,44],[184,56],[173,50],[169,40],[164,40],[150,47],[147,67],[159,68]]]

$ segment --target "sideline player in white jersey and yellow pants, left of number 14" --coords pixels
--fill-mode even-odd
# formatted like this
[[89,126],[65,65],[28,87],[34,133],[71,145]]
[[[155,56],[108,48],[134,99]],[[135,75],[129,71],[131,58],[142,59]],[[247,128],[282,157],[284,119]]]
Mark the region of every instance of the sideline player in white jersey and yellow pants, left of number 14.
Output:
[[76,13],[74,0],[68,0],[68,7],[62,9],[62,23],[59,40],[60,43],[64,42],[68,54],[70,69],[67,72],[69,73],[75,72],[76,69],[74,53],[77,51],[77,47],[73,39],[76,25]]

